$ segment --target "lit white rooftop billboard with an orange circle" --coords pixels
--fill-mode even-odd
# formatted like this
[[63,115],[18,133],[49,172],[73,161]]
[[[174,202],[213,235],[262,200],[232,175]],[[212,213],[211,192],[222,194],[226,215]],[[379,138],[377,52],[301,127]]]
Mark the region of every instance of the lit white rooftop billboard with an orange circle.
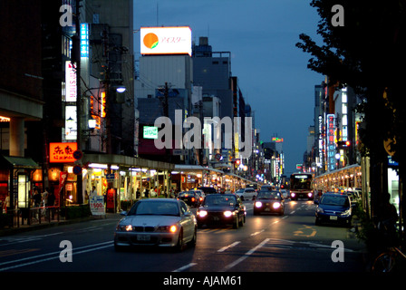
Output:
[[189,26],[141,27],[141,54],[192,55],[192,31]]

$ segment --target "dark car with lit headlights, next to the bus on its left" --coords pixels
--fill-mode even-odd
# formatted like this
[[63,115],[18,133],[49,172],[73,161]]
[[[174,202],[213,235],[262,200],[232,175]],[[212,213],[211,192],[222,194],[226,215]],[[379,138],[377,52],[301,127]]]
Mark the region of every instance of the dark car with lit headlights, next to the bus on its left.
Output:
[[283,216],[285,213],[285,199],[277,190],[259,191],[254,202],[254,216],[260,213],[277,213]]

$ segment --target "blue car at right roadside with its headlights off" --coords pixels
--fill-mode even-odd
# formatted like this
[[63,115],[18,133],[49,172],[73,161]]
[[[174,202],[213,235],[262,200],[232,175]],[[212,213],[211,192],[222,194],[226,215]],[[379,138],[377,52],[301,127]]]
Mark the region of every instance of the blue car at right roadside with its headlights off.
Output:
[[353,208],[350,198],[346,194],[327,192],[322,198],[314,199],[315,224],[322,223],[343,224],[351,226]]

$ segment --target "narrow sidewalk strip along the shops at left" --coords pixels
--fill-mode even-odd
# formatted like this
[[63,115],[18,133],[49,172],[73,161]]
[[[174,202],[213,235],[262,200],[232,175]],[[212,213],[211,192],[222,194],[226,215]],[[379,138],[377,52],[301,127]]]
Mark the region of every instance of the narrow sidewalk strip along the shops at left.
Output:
[[41,229],[41,228],[46,228],[46,227],[57,227],[57,226],[69,225],[69,224],[73,224],[73,223],[86,222],[86,221],[90,221],[90,220],[106,219],[106,218],[119,218],[119,217],[120,217],[120,213],[106,213],[104,216],[90,216],[90,217],[86,217],[86,218],[66,219],[64,217],[60,217],[59,221],[55,217],[51,221],[43,219],[41,221],[41,223],[39,223],[37,220],[35,220],[31,223],[31,225],[27,225],[26,219],[24,220],[24,225],[22,225],[22,220],[20,218],[18,226],[1,228],[0,237],[15,235],[15,234],[33,231],[36,229]]

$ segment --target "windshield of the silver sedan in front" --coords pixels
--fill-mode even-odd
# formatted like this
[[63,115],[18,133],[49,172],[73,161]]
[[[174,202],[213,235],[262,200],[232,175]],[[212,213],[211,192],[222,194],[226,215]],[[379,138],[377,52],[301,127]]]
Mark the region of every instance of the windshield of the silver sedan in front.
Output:
[[176,216],[179,217],[178,204],[169,201],[140,201],[129,211],[128,216]]

